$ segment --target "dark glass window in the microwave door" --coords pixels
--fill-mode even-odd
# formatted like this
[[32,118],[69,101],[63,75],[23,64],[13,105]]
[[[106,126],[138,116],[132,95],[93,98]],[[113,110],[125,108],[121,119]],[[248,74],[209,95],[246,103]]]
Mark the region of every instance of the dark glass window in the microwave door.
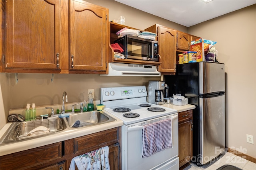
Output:
[[150,44],[148,43],[128,39],[127,46],[128,56],[150,57]]

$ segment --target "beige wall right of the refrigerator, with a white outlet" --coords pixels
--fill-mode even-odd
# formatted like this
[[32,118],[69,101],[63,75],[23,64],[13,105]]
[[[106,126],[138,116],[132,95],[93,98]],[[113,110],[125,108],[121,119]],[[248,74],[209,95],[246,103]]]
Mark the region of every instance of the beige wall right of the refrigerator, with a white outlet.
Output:
[[[217,41],[226,72],[226,146],[256,157],[256,5],[188,28]],[[254,136],[254,145],[246,142]]]

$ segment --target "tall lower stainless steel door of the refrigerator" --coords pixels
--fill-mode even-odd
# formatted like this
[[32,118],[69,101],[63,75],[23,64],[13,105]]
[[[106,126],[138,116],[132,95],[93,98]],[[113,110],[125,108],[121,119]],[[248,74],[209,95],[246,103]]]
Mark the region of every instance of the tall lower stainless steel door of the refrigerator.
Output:
[[200,164],[206,164],[225,150],[225,95],[199,98]]

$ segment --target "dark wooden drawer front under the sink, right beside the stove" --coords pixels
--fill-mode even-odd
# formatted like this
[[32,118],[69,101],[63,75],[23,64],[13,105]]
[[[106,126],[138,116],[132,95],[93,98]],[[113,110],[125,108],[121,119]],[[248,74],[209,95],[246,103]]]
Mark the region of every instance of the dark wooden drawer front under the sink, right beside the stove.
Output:
[[[98,133],[93,133],[83,137],[74,138],[74,154],[81,152],[81,154],[104,147],[106,145],[113,145],[118,143],[119,128],[113,128]],[[107,142],[106,142],[107,141]]]

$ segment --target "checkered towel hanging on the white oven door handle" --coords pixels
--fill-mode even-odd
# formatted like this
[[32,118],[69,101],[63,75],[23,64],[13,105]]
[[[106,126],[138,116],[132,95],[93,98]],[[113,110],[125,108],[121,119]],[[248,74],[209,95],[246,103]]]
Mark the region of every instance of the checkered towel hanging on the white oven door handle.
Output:
[[164,119],[143,125],[142,158],[172,148],[172,119]]

